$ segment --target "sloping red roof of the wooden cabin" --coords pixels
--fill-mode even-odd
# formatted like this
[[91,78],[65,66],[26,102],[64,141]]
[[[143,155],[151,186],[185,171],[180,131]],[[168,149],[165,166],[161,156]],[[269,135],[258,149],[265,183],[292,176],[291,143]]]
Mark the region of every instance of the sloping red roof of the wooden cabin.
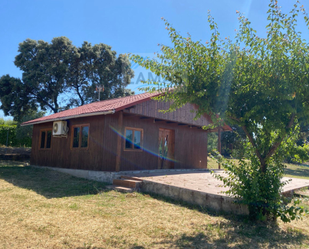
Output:
[[22,123],[21,125],[32,125],[39,123],[46,123],[56,120],[64,120],[75,117],[82,116],[91,116],[91,115],[100,115],[100,114],[108,114],[109,112],[117,112],[128,108],[130,106],[136,105],[140,102],[147,101],[152,97],[158,96],[159,93],[142,93],[138,95],[127,96],[123,98],[109,99],[94,102],[91,104],[79,106],[70,110],[65,110],[62,112],[58,112],[49,116],[37,118],[34,120],[30,120]]

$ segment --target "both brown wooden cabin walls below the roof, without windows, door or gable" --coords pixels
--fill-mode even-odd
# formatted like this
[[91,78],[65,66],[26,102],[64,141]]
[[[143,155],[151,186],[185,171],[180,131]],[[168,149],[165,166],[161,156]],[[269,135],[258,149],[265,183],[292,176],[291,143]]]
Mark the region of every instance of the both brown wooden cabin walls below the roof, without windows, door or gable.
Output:
[[[207,167],[207,132],[165,121],[154,122],[153,118],[141,119],[138,115],[125,114],[123,126],[118,130],[119,112],[107,116],[71,119],[68,138],[52,137],[50,150],[39,150],[40,130],[52,128],[53,123],[34,125],[31,164],[40,166],[115,171],[117,133],[125,127],[143,129],[143,151],[124,151],[121,139],[120,170],[157,169],[159,128],[175,131],[175,168]],[[72,125],[89,124],[88,149],[71,149]]]

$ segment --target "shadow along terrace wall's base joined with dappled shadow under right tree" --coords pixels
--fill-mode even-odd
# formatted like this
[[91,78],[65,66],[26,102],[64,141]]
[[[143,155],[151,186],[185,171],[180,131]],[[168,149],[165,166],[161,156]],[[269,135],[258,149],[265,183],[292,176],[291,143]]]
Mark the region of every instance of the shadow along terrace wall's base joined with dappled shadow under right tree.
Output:
[[[309,241],[309,236],[298,229],[281,229],[275,222],[252,222],[246,216],[217,212],[157,194],[144,193],[154,199],[196,210],[225,220],[209,223],[194,235],[182,234],[176,241],[163,240],[159,247],[176,248],[294,248]],[[214,239],[215,238],[215,239]]]

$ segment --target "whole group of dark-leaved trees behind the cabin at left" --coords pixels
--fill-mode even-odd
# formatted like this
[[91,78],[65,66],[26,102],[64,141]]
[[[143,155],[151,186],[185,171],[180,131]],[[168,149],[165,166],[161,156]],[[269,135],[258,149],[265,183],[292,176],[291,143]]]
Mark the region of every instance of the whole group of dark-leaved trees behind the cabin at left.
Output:
[[38,109],[56,113],[94,102],[97,85],[104,87],[100,100],[133,94],[125,89],[134,76],[128,57],[117,57],[102,43],[76,47],[66,37],[51,43],[27,39],[19,44],[14,63],[22,79],[0,78],[0,108],[16,121]]

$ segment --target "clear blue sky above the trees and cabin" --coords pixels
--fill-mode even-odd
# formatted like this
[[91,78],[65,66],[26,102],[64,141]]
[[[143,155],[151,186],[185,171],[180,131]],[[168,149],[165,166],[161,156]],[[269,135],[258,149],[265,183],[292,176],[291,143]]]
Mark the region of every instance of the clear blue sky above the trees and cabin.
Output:
[[[301,1],[305,8],[309,2]],[[189,32],[194,40],[207,40],[210,31],[207,12],[211,11],[223,37],[233,37],[238,28],[236,10],[243,12],[258,31],[266,34],[268,0],[0,0],[0,76],[21,77],[14,65],[18,44],[27,38],[50,42],[66,36],[74,45],[83,41],[105,43],[117,53],[152,55],[158,44],[169,45],[161,17],[179,32]],[[283,11],[294,0],[279,0]],[[308,29],[300,22],[299,30],[308,39]],[[135,68],[135,75],[146,73]],[[138,92],[140,86],[131,85]],[[0,111],[0,117],[3,113]]]

